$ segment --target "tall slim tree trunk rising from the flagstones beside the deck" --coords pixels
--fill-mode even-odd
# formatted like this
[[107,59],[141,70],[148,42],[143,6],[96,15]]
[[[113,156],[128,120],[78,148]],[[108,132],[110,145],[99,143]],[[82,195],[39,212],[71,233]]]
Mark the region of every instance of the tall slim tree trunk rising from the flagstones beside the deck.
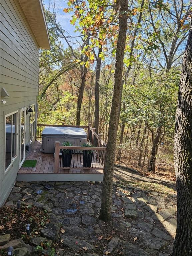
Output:
[[108,142],[106,149],[106,157],[104,164],[103,177],[103,192],[101,201],[101,210],[99,218],[104,221],[111,219],[111,204],[112,204],[112,188],[113,188],[113,169],[115,162],[115,149],[117,140],[117,129],[120,116],[121,98],[122,98],[122,72],[123,58],[125,50],[125,41],[127,33],[127,10],[128,1],[120,0],[117,2],[120,5],[119,15],[119,36],[117,40],[115,75],[111,113],[109,119]]

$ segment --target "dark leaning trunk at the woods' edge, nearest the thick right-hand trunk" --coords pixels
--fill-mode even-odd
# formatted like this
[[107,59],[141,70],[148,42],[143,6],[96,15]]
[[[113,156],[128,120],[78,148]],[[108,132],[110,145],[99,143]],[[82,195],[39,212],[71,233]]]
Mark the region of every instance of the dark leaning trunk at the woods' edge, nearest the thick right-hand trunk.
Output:
[[149,167],[148,167],[148,171],[150,172],[155,172],[156,155],[158,153],[158,146],[159,146],[160,137],[161,137],[161,129],[162,129],[161,125],[157,127],[157,132],[155,134],[155,138],[153,141],[151,156],[149,160]]

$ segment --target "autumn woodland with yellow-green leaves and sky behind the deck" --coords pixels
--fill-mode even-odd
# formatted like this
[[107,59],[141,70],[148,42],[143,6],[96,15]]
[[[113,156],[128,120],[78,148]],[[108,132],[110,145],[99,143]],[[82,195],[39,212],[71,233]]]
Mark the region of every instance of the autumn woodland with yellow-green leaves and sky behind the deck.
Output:
[[[107,143],[118,1],[45,0],[38,123],[92,124]],[[116,163],[175,180],[173,141],[191,1],[129,1]]]

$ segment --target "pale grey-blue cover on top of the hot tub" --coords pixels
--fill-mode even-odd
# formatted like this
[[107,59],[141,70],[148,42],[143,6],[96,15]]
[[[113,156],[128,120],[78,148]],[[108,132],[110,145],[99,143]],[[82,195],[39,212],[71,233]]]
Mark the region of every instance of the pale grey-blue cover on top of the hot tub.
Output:
[[87,133],[79,127],[47,126],[42,132],[47,138],[87,138]]

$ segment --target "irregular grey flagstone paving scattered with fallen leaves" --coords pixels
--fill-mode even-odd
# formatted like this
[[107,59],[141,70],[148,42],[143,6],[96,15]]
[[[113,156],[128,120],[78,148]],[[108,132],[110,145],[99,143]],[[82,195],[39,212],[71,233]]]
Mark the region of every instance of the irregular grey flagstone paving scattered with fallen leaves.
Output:
[[[98,219],[101,196],[102,183],[16,182],[6,205],[14,208],[20,199],[22,204],[47,210],[51,222],[41,230],[44,238],[33,238],[31,244],[52,240],[57,255],[171,255],[176,232],[174,195],[165,197],[116,184],[109,223]],[[21,241],[16,244],[25,248]],[[3,242],[2,247],[6,246]],[[19,253],[37,255],[33,247]]]

